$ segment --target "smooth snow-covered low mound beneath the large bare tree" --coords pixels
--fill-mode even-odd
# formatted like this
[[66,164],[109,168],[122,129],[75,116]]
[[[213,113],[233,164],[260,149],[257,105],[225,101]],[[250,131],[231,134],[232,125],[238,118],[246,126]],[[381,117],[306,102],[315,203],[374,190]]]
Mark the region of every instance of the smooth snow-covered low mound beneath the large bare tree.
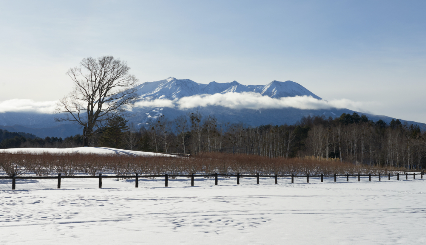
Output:
[[75,148],[11,148],[0,149],[0,153],[27,153],[27,154],[62,154],[62,153],[81,153],[81,154],[118,154],[129,156],[144,156],[144,157],[176,157],[169,154],[161,154],[145,151],[130,151],[108,147],[75,147]]

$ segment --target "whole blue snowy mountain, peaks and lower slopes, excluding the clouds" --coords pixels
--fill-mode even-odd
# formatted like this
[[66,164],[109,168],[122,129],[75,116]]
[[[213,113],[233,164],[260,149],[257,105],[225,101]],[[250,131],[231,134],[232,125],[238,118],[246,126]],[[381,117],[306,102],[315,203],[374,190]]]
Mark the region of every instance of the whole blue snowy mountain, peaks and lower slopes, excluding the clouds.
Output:
[[[231,83],[216,83],[209,84],[196,83],[189,79],[176,79],[169,77],[165,80],[156,82],[142,83],[137,86],[137,93],[141,101],[151,101],[155,99],[167,99],[176,102],[184,97],[199,95],[199,100],[208,100],[206,95],[226,94],[229,92],[242,93],[254,92],[262,96],[279,99],[282,97],[294,96],[311,96],[315,99],[322,100],[320,97],[300,85],[292,81],[272,81],[266,85],[242,85],[237,81]],[[253,94],[251,94],[253,95]],[[231,96],[234,96],[231,94]],[[245,95],[243,95],[245,97]],[[269,98],[268,98],[269,99]],[[261,102],[259,102],[261,103]],[[260,105],[263,105],[262,103]],[[261,108],[261,107],[259,107]],[[325,117],[340,117],[342,113],[352,114],[354,111],[345,108],[329,108],[325,109],[298,109],[294,107],[286,108],[261,108],[261,109],[235,109],[222,105],[206,105],[193,107],[190,109],[179,109],[178,107],[167,107],[152,105],[151,108],[135,107],[133,109],[133,117],[128,118],[130,122],[136,125],[146,125],[146,123],[154,120],[157,117],[165,115],[170,120],[180,115],[199,111],[204,116],[214,115],[218,121],[239,123],[245,125],[281,125],[294,124],[303,116],[321,116]],[[361,114],[360,112],[358,114]],[[0,128],[9,131],[21,131],[25,133],[35,134],[39,137],[66,137],[82,132],[81,128],[75,124],[58,123],[54,121],[54,114],[38,114],[31,112],[5,112],[0,113]],[[367,116],[376,121],[379,119],[385,122],[390,122],[391,117],[367,114]],[[403,122],[405,120],[402,120]],[[426,124],[419,122],[407,121],[409,124],[420,125],[426,129]]]

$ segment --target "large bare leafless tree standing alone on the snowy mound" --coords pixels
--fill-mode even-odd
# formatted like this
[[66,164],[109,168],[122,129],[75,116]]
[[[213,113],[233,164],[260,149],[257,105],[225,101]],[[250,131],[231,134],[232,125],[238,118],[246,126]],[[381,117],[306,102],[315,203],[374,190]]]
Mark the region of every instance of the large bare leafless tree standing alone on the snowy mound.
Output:
[[56,113],[65,113],[66,117],[55,120],[81,125],[84,146],[89,146],[90,139],[108,120],[129,116],[126,108],[132,107],[138,98],[135,93],[138,79],[129,70],[125,61],[112,56],[84,58],[79,67],[66,73],[74,88],[56,106]]

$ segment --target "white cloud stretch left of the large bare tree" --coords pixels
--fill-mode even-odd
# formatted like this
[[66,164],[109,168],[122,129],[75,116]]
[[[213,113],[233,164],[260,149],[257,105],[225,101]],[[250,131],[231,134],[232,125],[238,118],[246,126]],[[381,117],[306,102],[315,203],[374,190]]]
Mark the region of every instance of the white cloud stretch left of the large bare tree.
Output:
[[37,112],[37,113],[55,113],[57,101],[34,101],[28,99],[12,99],[0,101],[0,112]]

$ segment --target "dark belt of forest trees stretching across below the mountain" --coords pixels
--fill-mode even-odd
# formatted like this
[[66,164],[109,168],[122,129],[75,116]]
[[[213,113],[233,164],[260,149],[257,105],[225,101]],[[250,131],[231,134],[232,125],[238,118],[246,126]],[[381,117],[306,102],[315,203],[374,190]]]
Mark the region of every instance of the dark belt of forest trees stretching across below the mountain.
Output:
[[[0,131],[1,148],[81,147],[83,137],[65,139]],[[16,134],[16,135],[14,135]],[[9,135],[9,136],[5,136]],[[13,136],[12,136],[13,135]],[[302,117],[294,125],[261,125],[219,122],[200,112],[173,120],[164,115],[140,129],[122,117],[109,121],[99,131],[91,146],[112,147],[159,153],[198,154],[225,152],[257,154],[268,157],[311,157],[354,164],[389,168],[424,168],[426,133],[418,125],[393,119],[369,120],[366,115],[342,114],[340,117]]]

